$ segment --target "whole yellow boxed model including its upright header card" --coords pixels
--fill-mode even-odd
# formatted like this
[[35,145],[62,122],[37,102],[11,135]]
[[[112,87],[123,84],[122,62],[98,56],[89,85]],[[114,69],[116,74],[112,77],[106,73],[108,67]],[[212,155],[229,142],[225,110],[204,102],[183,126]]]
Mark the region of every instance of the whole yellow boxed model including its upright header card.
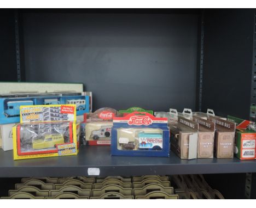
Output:
[[77,155],[80,122],[75,105],[21,106],[20,117],[21,124],[13,127],[14,160]]

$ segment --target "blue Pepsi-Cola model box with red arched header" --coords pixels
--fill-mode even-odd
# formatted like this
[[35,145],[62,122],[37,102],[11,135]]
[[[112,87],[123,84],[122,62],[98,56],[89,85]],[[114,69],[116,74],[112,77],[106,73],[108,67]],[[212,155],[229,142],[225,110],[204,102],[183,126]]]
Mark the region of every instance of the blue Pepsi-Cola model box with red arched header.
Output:
[[169,156],[170,131],[167,118],[133,112],[125,117],[114,117],[111,132],[112,156]]

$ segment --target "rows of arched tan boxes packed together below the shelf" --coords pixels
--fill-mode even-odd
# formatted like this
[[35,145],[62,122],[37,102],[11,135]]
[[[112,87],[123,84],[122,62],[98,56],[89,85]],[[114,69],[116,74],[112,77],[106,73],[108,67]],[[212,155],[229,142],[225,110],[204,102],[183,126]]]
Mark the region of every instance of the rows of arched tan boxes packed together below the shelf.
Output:
[[[223,199],[201,175],[23,178],[1,199]],[[171,186],[174,185],[175,187]]]

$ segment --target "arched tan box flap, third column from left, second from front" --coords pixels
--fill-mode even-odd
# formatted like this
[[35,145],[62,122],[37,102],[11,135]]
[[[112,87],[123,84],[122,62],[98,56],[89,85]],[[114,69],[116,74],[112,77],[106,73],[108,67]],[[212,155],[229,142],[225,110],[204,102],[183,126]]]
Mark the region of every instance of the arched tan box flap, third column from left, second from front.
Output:
[[104,193],[108,193],[108,192],[117,192],[123,195],[132,195],[132,188],[123,188],[119,185],[107,185],[101,189],[92,189],[92,196],[100,197]]

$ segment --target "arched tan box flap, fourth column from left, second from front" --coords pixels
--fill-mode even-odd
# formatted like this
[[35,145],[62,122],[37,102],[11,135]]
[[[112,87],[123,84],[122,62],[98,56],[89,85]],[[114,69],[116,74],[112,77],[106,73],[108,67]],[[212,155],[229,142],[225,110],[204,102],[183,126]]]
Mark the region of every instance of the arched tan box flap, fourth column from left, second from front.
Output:
[[150,183],[143,188],[134,188],[134,195],[146,195],[153,191],[161,191],[167,194],[173,194],[173,187],[164,187],[158,183]]

